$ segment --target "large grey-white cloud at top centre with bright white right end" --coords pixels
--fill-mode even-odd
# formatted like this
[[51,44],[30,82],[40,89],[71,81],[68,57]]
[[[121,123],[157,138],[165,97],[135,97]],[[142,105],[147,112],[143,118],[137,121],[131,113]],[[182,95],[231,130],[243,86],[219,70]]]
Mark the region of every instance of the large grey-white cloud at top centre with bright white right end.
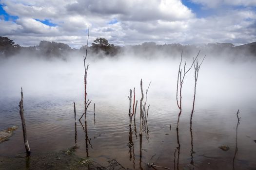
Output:
[[178,20],[194,14],[180,0],[78,0],[67,9],[84,15],[115,16],[121,20]]

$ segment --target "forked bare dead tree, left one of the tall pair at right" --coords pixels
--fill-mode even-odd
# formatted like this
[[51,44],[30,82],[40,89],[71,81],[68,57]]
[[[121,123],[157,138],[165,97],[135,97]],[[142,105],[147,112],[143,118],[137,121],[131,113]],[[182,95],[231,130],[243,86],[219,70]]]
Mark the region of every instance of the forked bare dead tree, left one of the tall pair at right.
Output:
[[[200,51],[199,51],[200,52]],[[199,52],[197,54],[197,57],[199,55]],[[188,70],[186,70],[186,65],[187,65],[187,62],[185,62],[184,64],[184,72],[182,74],[182,69],[180,68],[181,66],[181,63],[182,63],[182,54],[183,54],[183,51],[181,52],[181,56],[180,56],[180,63],[179,63],[179,67],[178,67],[178,75],[177,75],[177,90],[176,90],[176,101],[177,101],[177,106],[179,108],[179,114],[178,114],[178,120],[177,120],[177,129],[178,129],[178,124],[179,124],[179,117],[181,115],[181,110],[182,110],[182,106],[181,106],[181,98],[182,98],[182,85],[184,83],[184,78],[185,78],[185,75],[189,72],[189,70],[192,68],[193,64],[195,63],[197,57],[194,59],[193,58],[193,63],[191,64],[190,68]],[[178,91],[179,91],[179,101],[178,101]]]

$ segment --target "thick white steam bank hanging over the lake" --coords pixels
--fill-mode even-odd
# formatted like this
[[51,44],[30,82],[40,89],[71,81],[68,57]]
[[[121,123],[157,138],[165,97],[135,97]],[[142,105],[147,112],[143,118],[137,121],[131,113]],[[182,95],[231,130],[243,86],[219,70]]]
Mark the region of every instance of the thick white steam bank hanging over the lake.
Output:
[[[196,55],[196,54],[195,54]],[[187,68],[192,57],[187,60]],[[203,57],[201,54],[199,57]],[[140,79],[146,89],[149,82],[149,101],[170,100],[176,104],[176,85],[179,56],[144,59],[124,55],[118,58],[92,60],[87,78],[88,99],[125,102],[129,89],[136,87],[140,98]],[[154,58],[154,57],[153,57]],[[199,58],[200,59],[200,58]],[[255,62],[228,62],[227,60],[206,57],[197,82],[197,101],[204,104],[239,104],[244,100],[256,101]],[[183,68],[182,68],[183,69]],[[183,100],[192,101],[194,93],[194,68],[186,75],[183,84]],[[20,98],[23,86],[24,97],[65,98],[83,100],[83,60],[82,56],[63,60],[43,60],[35,57],[12,57],[0,61],[0,100]]]

